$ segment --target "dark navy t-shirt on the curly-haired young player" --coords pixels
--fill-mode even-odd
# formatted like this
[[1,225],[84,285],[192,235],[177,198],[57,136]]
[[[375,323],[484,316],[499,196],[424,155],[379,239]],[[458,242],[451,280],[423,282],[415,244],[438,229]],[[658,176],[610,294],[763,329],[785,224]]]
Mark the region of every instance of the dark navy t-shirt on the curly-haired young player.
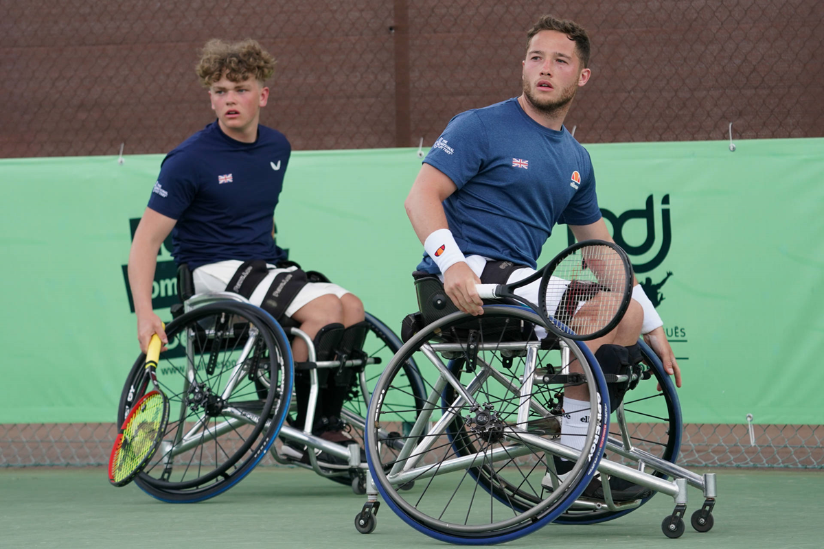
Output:
[[272,227],[291,151],[274,129],[258,126],[257,140],[244,143],[217,122],[171,151],[148,207],[177,220],[171,233],[175,262],[195,269],[227,259],[285,259]]

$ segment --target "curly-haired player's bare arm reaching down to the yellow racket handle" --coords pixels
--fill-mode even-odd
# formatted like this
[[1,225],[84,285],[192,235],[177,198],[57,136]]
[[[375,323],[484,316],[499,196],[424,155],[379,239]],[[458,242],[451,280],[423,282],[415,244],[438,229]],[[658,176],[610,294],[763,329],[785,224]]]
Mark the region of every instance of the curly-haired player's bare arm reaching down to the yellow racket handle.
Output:
[[157,268],[157,252],[176,222],[147,207],[134,231],[132,249],[129,250],[129,286],[138,317],[138,342],[144,352],[155,333],[162,342],[169,342],[161,319],[152,311],[152,282]]

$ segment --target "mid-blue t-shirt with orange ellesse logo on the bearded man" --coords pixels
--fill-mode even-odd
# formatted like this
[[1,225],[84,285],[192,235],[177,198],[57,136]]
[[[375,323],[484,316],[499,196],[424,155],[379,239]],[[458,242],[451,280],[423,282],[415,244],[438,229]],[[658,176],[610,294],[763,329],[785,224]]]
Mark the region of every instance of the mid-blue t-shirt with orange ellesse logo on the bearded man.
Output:
[[[517,98],[458,114],[424,162],[457,187],[443,209],[465,255],[536,268],[556,223],[601,219],[587,150],[566,128],[536,123]],[[427,254],[418,268],[439,272]]]

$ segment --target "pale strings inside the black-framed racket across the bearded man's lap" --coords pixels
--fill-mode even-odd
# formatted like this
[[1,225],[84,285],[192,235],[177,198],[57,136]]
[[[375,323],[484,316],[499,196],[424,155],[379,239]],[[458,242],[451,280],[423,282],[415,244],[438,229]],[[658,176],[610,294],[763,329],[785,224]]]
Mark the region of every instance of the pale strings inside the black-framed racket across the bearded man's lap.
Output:
[[625,260],[616,249],[602,244],[575,249],[553,269],[545,314],[578,335],[597,333],[620,313],[627,278]]

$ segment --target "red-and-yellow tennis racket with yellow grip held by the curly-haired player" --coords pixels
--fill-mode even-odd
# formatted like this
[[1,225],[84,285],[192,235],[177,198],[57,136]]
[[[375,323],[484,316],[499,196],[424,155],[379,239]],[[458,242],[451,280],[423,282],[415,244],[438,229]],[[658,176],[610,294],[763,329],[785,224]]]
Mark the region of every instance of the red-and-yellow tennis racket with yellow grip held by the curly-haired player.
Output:
[[155,374],[161,347],[160,337],[153,335],[146,350],[146,372],[155,388],[134,404],[111,449],[109,482],[115,486],[126,486],[143,471],[166,432],[169,399],[157,383]]

